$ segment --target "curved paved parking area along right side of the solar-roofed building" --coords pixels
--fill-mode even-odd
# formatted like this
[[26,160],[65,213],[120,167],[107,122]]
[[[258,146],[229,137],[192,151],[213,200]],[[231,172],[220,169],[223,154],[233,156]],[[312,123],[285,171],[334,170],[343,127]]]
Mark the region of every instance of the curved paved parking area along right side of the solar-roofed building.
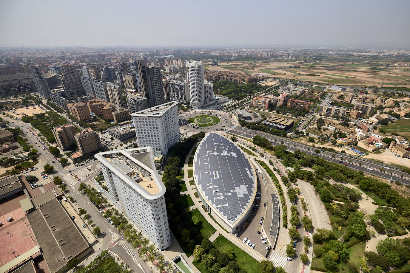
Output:
[[[265,186],[261,184],[263,184],[263,178],[261,174],[257,173],[257,179],[258,179],[258,186],[257,186],[257,192],[260,192],[260,202],[255,203],[255,201],[253,202],[253,205],[258,205],[257,209],[255,211],[252,211],[249,214],[249,217],[247,218],[247,223],[248,226],[243,230],[242,228],[239,230],[238,232],[238,237],[241,240],[244,240],[245,237],[247,237],[247,240],[251,240],[252,244],[255,244],[255,250],[259,253],[261,253],[262,255],[266,256],[267,253],[269,253],[269,250],[266,250],[266,247],[269,247],[270,244],[262,244],[262,236],[269,236],[269,230],[267,232],[265,232],[265,230],[263,230],[262,232],[262,225],[260,225],[260,221],[261,221],[261,217],[264,217],[264,214],[266,214],[266,210],[267,208],[264,207],[264,203],[266,203],[266,190],[265,190]],[[266,203],[266,205],[268,205]],[[269,217],[268,217],[269,218]],[[250,221],[249,221],[250,220]],[[271,217],[270,219],[265,219],[264,221],[268,221],[269,225],[271,223]],[[260,233],[257,233],[260,232]],[[266,235],[267,234],[267,235]],[[246,243],[246,242],[245,242]],[[245,244],[243,243],[243,244]]]

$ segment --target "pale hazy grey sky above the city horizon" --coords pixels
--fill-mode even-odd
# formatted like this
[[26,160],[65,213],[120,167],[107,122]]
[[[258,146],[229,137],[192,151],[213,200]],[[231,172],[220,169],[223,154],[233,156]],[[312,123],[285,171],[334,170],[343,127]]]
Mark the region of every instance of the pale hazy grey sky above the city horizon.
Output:
[[0,0],[0,46],[410,47],[409,0]]

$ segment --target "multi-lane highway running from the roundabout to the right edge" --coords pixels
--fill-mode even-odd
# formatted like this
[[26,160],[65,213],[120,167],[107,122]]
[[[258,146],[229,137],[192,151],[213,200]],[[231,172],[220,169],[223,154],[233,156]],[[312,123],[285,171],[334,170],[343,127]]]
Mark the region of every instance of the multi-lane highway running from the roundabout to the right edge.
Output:
[[[288,151],[296,151],[296,150],[301,150],[307,154],[310,155],[315,155],[315,156],[320,156],[322,158],[325,158],[326,160],[330,161],[330,162],[335,162],[335,163],[339,163],[339,164],[346,164],[347,167],[354,169],[356,171],[363,171],[366,174],[371,174],[374,176],[378,176],[381,178],[385,178],[385,179],[392,179],[392,182],[395,181],[400,181],[403,184],[406,185],[410,185],[410,175],[403,172],[403,171],[399,171],[397,169],[384,169],[384,165],[378,165],[375,163],[370,163],[358,158],[350,158],[348,155],[346,156],[342,156],[337,154],[334,158],[332,157],[332,152],[328,152],[328,151],[321,151],[319,154],[318,153],[314,153],[314,150],[316,150],[317,148],[313,148],[298,142],[293,142],[292,140],[289,140],[287,138],[281,138],[279,136],[276,135],[271,135],[269,133],[264,133],[264,132],[260,132],[260,131],[254,131],[254,130],[250,130],[248,131],[248,129],[246,128],[241,128],[239,126],[237,126],[235,129],[231,129],[230,133],[235,133],[237,135],[242,135],[248,138],[253,138],[253,136],[255,135],[260,135],[262,137],[267,138],[268,140],[270,140],[273,144],[276,145],[286,145],[287,146],[287,150]],[[274,141],[276,139],[276,142]],[[281,144],[280,142],[283,141],[284,143]],[[289,142],[289,143],[287,143]],[[296,147],[294,147],[294,145],[296,145]],[[308,148],[310,150],[308,150]],[[320,149],[320,148],[319,148]],[[342,158],[341,158],[342,157]],[[352,162],[348,162],[348,160],[352,160]],[[342,162],[340,162],[342,161]],[[410,160],[409,160],[410,162]],[[360,166],[360,163],[362,164]],[[368,168],[371,168],[368,169]],[[384,171],[380,171],[380,168],[383,168]],[[391,171],[391,174],[389,173]],[[403,175],[403,177],[401,177],[401,175]]]

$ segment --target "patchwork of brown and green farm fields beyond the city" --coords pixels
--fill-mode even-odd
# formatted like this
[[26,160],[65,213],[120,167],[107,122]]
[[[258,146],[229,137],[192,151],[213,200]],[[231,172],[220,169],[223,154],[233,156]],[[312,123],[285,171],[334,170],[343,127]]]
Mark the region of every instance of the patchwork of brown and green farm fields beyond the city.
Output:
[[[384,62],[386,61],[386,63]],[[389,63],[387,65],[387,63]],[[231,61],[211,65],[210,70],[255,73],[280,79],[298,79],[344,86],[410,87],[408,63],[380,60],[373,63],[342,61],[298,63],[296,61]]]

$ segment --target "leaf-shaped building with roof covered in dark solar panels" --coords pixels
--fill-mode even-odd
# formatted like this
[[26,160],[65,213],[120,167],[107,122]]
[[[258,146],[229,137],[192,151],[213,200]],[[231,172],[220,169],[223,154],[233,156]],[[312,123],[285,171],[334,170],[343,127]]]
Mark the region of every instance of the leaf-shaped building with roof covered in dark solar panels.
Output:
[[252,211],[257,189],[246,154],[223,135],[208,133],[195,153],[194,180],[205,208],[235,234]]

